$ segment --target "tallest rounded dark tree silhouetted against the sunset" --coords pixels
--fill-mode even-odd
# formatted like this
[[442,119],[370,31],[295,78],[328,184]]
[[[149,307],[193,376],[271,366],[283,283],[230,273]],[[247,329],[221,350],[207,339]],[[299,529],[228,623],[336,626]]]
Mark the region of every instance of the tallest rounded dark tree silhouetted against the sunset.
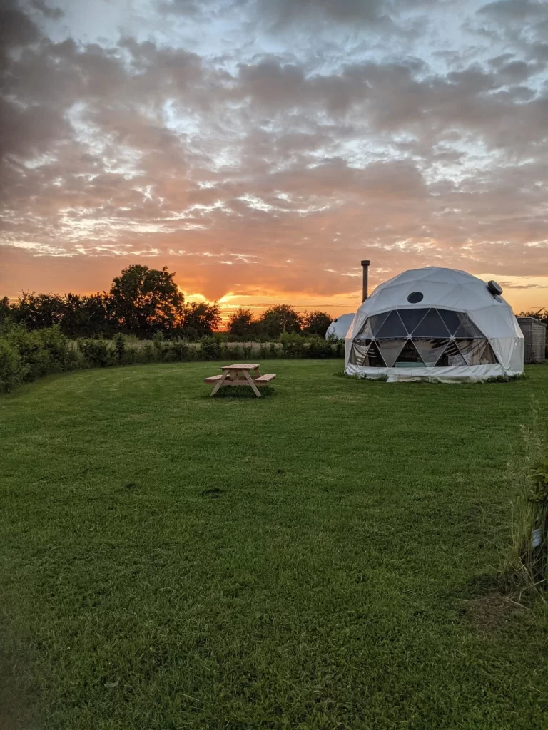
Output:
[[115,318],[137,337],[155,331],[170,332],[183,323],[184,296],[173,280],[175,274],[134,264],[115,277],[110,288]]

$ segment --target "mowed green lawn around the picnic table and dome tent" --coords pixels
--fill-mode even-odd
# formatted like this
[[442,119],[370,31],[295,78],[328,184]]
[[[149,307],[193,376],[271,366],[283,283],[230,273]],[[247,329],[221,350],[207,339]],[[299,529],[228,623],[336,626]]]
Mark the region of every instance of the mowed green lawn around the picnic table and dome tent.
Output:
[[1,399],[2,730],[547,727],[547,611],[495,584],[548,366],[341,369],[269,362],[265,399],[210,399],[211,363]]

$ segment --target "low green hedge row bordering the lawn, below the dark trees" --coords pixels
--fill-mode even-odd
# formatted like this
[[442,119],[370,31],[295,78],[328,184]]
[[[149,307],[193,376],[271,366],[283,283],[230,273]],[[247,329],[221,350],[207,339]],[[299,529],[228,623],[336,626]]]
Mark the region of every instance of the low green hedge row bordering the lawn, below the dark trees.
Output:
[[113,367],[162,362],[259,360],[280,358],[341,358],[344,342],[321,337],[283,334],[275,342],[227,342],[223,337],[142,341],[116,335],[114,339],[71,340],[58,326],[28,331],[9,324],[0,332],[0,391],[43,375],[91,367]]

